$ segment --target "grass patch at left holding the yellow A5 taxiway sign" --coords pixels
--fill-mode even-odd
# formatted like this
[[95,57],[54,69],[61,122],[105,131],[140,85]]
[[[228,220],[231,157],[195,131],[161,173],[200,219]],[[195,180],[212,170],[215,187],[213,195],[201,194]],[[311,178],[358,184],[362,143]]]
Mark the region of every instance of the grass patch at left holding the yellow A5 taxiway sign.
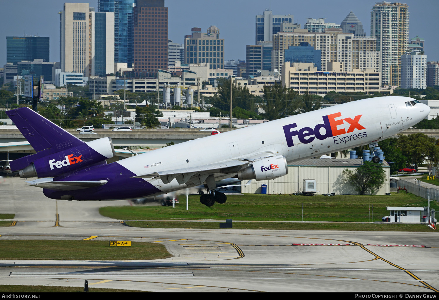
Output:
[[93,240],[2,240],[0,243],[0,260],[130,261],[167,257],[172,255],[159,243],[131,242],[126,247]]

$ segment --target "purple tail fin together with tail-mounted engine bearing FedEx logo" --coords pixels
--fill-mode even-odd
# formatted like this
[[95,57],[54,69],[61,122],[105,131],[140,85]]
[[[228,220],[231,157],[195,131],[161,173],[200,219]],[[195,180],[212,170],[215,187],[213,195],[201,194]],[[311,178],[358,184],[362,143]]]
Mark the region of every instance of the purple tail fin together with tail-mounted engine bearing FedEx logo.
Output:
[[106,164],[105,160],[114,156],[110,138],[85,143],[28,107],[6,114],[36,151],[11,161],[12,170],[19,170],[22,178],[69,174],[94,164]]

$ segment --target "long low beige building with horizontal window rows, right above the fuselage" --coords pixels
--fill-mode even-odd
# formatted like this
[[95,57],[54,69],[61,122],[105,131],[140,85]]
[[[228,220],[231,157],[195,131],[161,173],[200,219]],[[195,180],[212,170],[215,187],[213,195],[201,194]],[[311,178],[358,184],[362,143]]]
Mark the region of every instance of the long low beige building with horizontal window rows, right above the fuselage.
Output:
[[382,90],[380,72],[375,69],[353,69],[341,71],[341,63],[328,64],[325,72],[317,71],[312,63],[290,63],[282,67],[282,86],[294,89],[300,94],[308,92],[325,96],[327,92],[362,92],[362,93],[390,93]]

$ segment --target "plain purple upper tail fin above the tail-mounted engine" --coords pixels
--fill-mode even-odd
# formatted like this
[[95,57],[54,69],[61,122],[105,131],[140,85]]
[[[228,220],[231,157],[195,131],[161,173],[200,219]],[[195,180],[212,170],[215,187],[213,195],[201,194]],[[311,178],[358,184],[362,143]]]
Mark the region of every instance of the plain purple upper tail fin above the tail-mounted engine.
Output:
[[66,146],[79,146],[84,143],[29,107],[20,107],[7,111],[6,114],[36,152],[47,149],[47,154],[50,154]]

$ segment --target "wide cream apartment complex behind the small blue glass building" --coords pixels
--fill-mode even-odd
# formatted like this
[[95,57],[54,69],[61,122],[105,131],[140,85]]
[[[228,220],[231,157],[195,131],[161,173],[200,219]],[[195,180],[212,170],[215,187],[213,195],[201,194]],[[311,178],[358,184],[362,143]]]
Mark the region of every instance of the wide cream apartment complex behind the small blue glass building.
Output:
[[300,46],[300,43],[309,43],[314,49],[321,50],[322,71],[326,71],[329,62],[342,63],[342,68],[346,72],[354,68],[379,70],[381,66],[375,37],[354,36],[353,33],[342,32],[342,29],[325,29],[322,33],[294,29],[293,32],[278,32],[273,35],[271,70],[281,71],[284,64],[284,50],[289,46]]

